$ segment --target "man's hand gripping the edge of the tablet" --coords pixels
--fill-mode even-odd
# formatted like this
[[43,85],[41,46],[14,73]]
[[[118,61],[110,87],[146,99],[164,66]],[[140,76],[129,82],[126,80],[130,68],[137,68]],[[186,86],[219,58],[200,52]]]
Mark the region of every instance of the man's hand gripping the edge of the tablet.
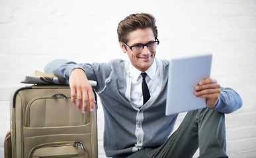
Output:
[[207,107],[213,108],[218,103],[220,95],[220,84],[212,78],[201,80],[197,86],[194,87],[194,95],[196,97],[206,98]]

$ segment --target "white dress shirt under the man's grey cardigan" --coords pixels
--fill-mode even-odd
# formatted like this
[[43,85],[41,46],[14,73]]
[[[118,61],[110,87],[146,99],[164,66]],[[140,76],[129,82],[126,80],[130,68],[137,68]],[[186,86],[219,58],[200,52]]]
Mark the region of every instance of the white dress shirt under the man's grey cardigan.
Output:
[[[135,68],[131,63],[129,63],[129,77],[130,77],[130,100],[137,107],[142,107],[143,105],[143,95],[142,95],[142,72]],[[148,74],[146,76],[146,83],[148,84],[148,89],[150,96],[157,90],[159,84],[159,68],[155,61],[146,70]],[[128,86],[129,87],[129,86]]]

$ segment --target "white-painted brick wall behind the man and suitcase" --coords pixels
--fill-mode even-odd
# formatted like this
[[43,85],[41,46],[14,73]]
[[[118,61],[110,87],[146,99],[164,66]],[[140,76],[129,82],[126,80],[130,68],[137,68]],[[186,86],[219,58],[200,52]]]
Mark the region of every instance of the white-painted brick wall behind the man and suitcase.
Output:
[[[256,1],[0,0],[0,157],[9,130],[9,97],[21,79],[53,59],[127,59],[116,27],[131,13],[157,19],[157,57],[211,51],[212,77],[234,88],[243,107],[226,115],[230,157],[256,157]],[[99,154],[103,118],[99,108]],[[179,117],[179,122],[183,115]],[[198,154],[198,153],[197,153]]]

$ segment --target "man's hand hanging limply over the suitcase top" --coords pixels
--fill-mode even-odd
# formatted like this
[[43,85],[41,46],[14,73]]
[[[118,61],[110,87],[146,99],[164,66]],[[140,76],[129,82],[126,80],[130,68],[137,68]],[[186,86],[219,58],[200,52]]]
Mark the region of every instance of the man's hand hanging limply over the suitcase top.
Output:
[[86,113],[88,103],[90,111],[94,110],[95,101],[93,97],[93,89],[85,72],[81,68],[75,68],[71,71],[69,76],[69,87],[73,105],[75,105],[75,95],[77,95],[77,110],[81,110],[81,105],[83,105],[83,113]]

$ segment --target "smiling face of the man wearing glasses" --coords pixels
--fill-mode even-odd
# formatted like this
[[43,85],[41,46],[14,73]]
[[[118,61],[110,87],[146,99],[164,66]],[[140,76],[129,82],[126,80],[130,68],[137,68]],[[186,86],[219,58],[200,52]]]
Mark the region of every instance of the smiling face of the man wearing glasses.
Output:
[[[153,31],[151,28],[145,28],[137,29],[133,32],[130,32],[130,34],[128,34],[128,42],[126,44],[129,46],[133,46],[139,44],[146,44],[151,41],[155,41]],[[122,48],[122,51],[124,53],[128,54],[130,62],[138,70],[145,72],[153,64],[153,61],[155,59],[155,49],[148,50],[148,48],[145,46],[142,52],[134,53],[128,47],[126,47],[126,50],[125,45],[122,42],[120,42],[120,47]]]

